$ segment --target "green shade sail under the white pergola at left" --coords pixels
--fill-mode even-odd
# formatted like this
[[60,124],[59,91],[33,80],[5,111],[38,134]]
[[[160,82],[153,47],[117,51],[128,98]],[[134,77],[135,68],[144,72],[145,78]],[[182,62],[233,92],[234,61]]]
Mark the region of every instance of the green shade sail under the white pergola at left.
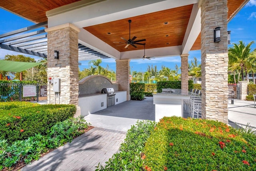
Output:
[[22,72],[24,70],[44,63],[46,62],[16,62],[0,60],[0,71]]

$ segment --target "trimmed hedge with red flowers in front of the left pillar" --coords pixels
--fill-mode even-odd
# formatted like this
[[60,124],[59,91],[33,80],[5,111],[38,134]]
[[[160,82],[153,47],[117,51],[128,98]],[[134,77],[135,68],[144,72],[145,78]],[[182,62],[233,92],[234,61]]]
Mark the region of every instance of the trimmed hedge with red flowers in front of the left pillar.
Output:
[[[5,103],[5,102],[2,102]],[[27,102],[10,102],[10,106],[23,106]],[[8,105],[8,103],[6,103]],[[28,103],[29,104],[29,103]],[[1,104],[4,106],[3,104]],[[75,105],[36,105],[0,110],[0,139],[8,143],[27,139],[35,133],[46,135],[54,124],[64,121],[76,113]],[[5,107],[6,108],[6,107]]]

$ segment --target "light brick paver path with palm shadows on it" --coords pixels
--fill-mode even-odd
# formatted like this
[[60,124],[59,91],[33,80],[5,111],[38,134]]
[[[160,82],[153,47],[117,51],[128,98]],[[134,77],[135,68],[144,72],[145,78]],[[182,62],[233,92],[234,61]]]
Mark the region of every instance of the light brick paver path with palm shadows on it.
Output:
[[55,149],[22,171],[95,171],[124,141],[126,132],[94,127],[71,143]]

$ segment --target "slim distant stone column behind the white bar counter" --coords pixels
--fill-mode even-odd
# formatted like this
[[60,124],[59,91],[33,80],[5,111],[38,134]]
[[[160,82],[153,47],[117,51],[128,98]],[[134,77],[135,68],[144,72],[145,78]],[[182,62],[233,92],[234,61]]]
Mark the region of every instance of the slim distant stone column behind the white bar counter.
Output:
[[188,93],[188,54],[181,54],[181,91]]

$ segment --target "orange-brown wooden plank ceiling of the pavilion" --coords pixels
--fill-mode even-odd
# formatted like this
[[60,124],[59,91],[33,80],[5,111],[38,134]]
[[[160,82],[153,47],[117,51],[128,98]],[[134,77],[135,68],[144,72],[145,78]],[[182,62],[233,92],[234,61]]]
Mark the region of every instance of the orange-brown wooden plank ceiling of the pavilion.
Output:
[[[32,22],[40,23],[47,21],[46,11],[77,1],[79,0],[1,0],[0,6]],[[245,0],[228,0],[228,19],[244,1]],[[128,46],[128,48],[124,48],[125,45],[113,43],[124,42],[121,37],[126,40],[129,39],[128,20],[130,19],[132,20],[130,37],[133,38],[133,36],[136,36],[136,40],[146,39],[145,42],[141,42],[146,43],[146,49],[179,46],[182,44],[192,7],[193,5],[172,8],[89,26],[84,29],[120,52],[143,49],[143,45],[138,45],[138,48],[134,48],[131,45]],[[164,24],[166,22],[167,24]],[[200,50],[200,48],[201,38],[199,35],[191,50]]]

